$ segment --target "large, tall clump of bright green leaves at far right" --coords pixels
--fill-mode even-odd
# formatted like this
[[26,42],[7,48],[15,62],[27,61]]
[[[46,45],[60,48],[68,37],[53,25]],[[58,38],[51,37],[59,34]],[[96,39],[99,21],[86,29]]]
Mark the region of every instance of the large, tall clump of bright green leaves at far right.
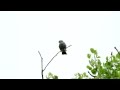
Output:
[[90,49],[91,57],[89,59],[89,64],[87,68],[99,79],[120,79],[120,55],[111,55],[106,57],[106,62],[102,63],[98,56],[97,50],[93,48]]

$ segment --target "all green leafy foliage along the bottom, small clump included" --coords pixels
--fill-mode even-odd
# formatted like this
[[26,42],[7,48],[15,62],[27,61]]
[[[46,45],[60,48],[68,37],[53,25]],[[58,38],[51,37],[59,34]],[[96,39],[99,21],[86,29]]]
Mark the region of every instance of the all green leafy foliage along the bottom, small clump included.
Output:
[[[115,47],[116,49],[116,47]],[[117,50],[117,49],[116,49]],[[118,52],[118,50],[117,50]],[[107,56],[105,62],[101,62],[97,50],[90,48],[87,54],[89,65],[86,66],[88,73],[76,73],[74,79],[120,79],[120,53]],[[88,74],[91,76],[89,77]],[[57,75],[49,73],[47,79],[58,79]]]

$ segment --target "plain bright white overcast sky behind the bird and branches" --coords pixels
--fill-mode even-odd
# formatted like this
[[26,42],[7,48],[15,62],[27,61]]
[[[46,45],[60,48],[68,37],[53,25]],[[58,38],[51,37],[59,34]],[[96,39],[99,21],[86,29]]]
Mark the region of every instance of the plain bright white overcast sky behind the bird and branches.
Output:
[[90,48],[105,61],[120,50],[119,11],[0,11],[0,78],[41,79],[44,67],[59,51],[58,41],[72,45],[58,54],[44,71],[59,78],[86,72]]

